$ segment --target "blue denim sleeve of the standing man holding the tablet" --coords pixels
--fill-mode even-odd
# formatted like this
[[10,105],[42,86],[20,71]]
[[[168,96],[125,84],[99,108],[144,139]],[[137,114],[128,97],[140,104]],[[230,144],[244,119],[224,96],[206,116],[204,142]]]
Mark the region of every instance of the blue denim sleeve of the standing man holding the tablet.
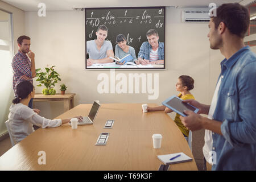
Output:
[[243,146],[243,143],[256,143],[256,61],[241,69],[238,75],[238,94],[240,122],[225,119],[221,133],[232,146]]

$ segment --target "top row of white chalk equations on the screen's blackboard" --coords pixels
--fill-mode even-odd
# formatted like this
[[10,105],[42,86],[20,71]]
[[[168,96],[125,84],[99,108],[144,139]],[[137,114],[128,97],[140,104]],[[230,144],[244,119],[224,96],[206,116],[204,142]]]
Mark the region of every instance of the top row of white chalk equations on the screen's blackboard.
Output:
[[121,25],[121,24],[151,24],[154,23],[155,28],[163,28],[164,26],[164,10],[159,9],[158,13],[152,15],[148,10],[143,10],[140,14],[131,16],[129,10],[124,10],[122,16],[115,15],[112,11],[108,11],[105,15],[100,17],[94,17],[94,11],[89,16],[86,15],[86,26],[98,27],[101,24],[105,26],[109,25]]

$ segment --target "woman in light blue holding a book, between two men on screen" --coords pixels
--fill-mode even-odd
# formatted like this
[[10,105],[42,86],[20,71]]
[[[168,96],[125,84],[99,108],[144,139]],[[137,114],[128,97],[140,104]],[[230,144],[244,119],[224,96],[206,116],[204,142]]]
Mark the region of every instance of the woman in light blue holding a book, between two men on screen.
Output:
[[115,61],[115,63],[122,65],[127,62],[133,62],[133,63],[139,64],[139,61],[137,60],[137,57],[135,55],[135,49],[126,44],[127,40],[125,38],[125,35],[123,34],[117,35],[117,39],[115,42],[117,43],[117,45],[115,45],[115,56],[119,57],[119,59],[122,59],[124,56],[130,54],[131,57],[133,57],[130,60],[123,61],[122,63],[119,63],[118,61]]

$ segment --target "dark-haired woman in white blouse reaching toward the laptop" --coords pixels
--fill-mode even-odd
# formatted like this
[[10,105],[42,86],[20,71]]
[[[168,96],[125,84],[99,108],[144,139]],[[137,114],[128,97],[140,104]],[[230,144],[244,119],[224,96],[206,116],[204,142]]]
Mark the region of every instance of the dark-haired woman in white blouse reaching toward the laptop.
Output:
[[[57,127],[68,123],[68,119],[46,119],[38,115],[39,110],[32,110],[28,107],[28,102],[35,96],[35,88],[30,81],[22,81],[16,87],[18,97],[14,98],[13,104],[10,106],[9,128],[15,142],[20,142],[32,132],[33,125],[46,127]],[[81,119],[81,116],[74,117]]]

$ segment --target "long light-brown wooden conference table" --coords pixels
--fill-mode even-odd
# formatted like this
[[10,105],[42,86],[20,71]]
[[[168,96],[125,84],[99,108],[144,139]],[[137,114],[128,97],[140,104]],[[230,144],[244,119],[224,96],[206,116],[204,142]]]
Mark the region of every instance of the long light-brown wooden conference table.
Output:
[[[81,104],[56,118],[86,116],[91,107]],[[104,129],[108,119],[114,119],[112,129]],[[101,133],[109,133],[108,142],[96,146]],[[163,136],[161,148],[153,147],[153,134]],[[40,151],[46,164],[39,163]],[[143,113],[142,104],[102,104],[93,125],[36,130],[0,157],[0,170],[156,171],[163,164],[158,155],[177,152],[193,160],[171,164],[169,170],[197,170],[187,141],[164,111]]]

